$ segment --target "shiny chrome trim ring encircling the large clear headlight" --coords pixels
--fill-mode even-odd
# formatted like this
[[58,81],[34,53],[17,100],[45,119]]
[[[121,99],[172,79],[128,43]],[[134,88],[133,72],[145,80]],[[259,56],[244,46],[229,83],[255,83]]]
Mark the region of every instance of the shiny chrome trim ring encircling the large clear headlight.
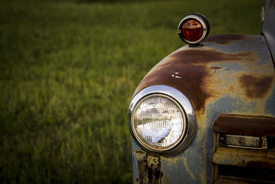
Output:
[[[140,101],[144,100],[145,98],[148,98],[148,96],[151,95],[164,96],[167,99],[176,102],[175,104],[179,105],[179,108],[183,110],[182,112],[185,114],[186,117],[186,125],[183,133],[181,134],[180,139],[177,141],[177,143],[174,143],[173,145],[164,150],[155,150],[152,147],[145,145],[140,139],[137,138],[135,130],[133,130],[132,126],[132,114],[135,111],[135,108],[140,103]],[[133,99],[131,100],[128,110],[128,123],[133,139],[135,139],[137,144],[140,145],[140,147],[143,150],[151,154],[157,154],[162,156],[179,154],[180,152],[186,150],[188,145],[190,145],[190,143],[192,142],[197,128],[197,118],[195,115],[195,110],[192,107],[190,101],[188,101],[184,94],[168,85],[152,85],[148,88],[144,88],[135,96],[133,96]]]

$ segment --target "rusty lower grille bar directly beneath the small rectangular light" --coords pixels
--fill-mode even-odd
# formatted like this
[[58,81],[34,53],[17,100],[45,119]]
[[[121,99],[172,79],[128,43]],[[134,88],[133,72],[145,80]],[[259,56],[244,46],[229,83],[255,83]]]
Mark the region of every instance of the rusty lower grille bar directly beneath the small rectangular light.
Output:
[[213,154],[213,163],[218,165],[237,165],[245,167],[275,169],[275,154],[272,151],[246,150],[219,147]]

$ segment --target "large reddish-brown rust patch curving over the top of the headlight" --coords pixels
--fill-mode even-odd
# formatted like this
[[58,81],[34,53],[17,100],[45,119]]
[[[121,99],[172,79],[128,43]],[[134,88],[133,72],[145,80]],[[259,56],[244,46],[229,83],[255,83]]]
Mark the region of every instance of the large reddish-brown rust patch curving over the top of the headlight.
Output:
[[[169,85],[185,94],[197,111],[204,112],[206,99],[214,95],[214,92],[206,90],[206,79],[213,73],[208,64],[239,61],[252,55],[253,52],[231,54],[217,50],[181,50],[171,54],[166,61],[148,72],[135,92],[149,85]],[[180,78],[173,77],[175,73]]]

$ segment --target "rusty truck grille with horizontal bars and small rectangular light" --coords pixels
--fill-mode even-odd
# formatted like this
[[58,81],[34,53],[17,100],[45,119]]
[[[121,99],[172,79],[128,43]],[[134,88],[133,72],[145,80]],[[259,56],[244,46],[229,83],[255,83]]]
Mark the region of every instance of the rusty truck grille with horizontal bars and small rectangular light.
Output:
[[213,130],[213,183],[275,183],[275,118],[222,114]]

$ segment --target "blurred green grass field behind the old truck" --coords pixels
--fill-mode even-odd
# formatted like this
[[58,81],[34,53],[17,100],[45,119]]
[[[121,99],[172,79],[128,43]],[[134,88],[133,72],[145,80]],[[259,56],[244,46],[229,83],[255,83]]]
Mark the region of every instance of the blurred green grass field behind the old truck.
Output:
[[131,183],[128,104],[179,21],[259,34],[262,3],[1,1],[0,183]]

